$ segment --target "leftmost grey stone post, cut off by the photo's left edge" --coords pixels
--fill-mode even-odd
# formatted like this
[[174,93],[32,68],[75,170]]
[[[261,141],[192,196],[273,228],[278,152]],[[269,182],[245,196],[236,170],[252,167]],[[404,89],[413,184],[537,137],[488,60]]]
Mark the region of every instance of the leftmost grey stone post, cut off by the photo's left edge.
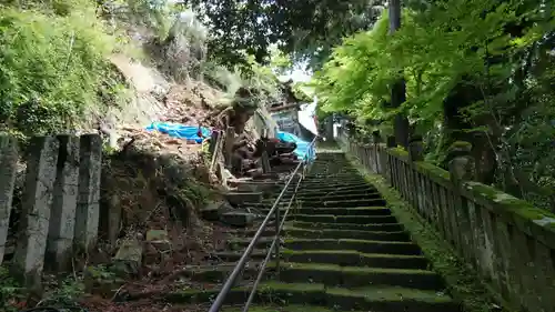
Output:
[[10,227],[17,165],[18,141],[10,135],[0,135],[0,264],[2,264]]

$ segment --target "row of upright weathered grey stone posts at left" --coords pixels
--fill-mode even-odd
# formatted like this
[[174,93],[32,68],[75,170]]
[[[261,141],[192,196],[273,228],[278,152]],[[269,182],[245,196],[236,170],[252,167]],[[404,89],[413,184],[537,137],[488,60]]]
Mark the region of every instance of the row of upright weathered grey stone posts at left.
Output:
[[[70,269],[74,251],[94,245],[101,157],[98,134],[34,137],[22,159],[18,141],[0,135],[0,264],[12,256],[12,272],[34,283],[44,266]],[[16,178],[23,165],[21,209],[12,211]],[[10,214],[18,219],[12,222],[17,229],[10,229]]]

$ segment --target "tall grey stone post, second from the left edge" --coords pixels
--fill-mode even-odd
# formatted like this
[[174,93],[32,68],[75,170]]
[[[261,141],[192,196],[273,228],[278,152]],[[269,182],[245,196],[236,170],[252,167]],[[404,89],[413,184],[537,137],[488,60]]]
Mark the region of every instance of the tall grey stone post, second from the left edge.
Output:
[[14,275],[27,285],[40,283],[44,266],[59,145],[58,140],[50,137],[34,137],[30,142],[12,266]]

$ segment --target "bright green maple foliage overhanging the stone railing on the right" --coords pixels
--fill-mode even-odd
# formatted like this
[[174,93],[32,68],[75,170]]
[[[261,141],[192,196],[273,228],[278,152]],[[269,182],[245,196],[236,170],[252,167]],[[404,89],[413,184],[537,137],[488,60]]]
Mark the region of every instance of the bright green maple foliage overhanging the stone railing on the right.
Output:
[[[496,163],[483,165],[494,167],[497,187],[516,183],[516,195],[553,205],[555,171],[546,153],[555,139],[554,12],[541,1],[408,4],[393,36],[384,14],[372,31],[334,49],[313,81],[321,109],[346,111],[366,131],[369,121],[391,123],[401,112],[424,134],[426,159],[435,162],[444,159],[450,132],[483,135],[472,143],[494,150]],[[391,85],[401,78],[406,101],[391,109]],[[466,87],[472,91],[461,91]],[[446,99],[458,104],[463,128],[447,129]]]

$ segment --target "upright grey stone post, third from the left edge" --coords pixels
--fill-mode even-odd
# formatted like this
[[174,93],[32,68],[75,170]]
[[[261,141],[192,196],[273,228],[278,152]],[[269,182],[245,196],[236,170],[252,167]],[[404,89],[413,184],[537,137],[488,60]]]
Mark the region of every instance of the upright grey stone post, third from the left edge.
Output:
[[56,168],[52,209],[48,230],[48,269],[64,271],[71,264],[79,182],[79,137],[58,135],[60,150]]

